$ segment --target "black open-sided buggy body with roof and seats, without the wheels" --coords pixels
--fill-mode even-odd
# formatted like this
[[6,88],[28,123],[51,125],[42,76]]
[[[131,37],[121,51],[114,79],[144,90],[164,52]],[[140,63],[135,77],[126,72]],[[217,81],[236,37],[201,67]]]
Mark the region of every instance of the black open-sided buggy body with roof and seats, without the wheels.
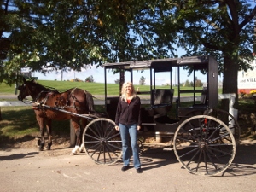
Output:
[[[194,85],[189,90],[183,90],[182,87],[183,76],[180,72],[183,67],[189,67],[192,71]],[[207,108],[216,108],[218,105],[218,62],[212,56],[107,63],[104,65],[104,69],[105,107],[109,118],[112,120],[115,118],[119,92],[117,91],[117,96],[108,96],[107,71],[111,69],[129,72],[130,74],[127,73],[128,77],[125,76],[125,78],[131,82],[134,80],[134,72],[149,71],[149,90],[137,91],[137,95],[145,104],[141,108],[142,131],[160,132],[162,137],[172,137],[181,119],[196,113],[202,114]],[[196,71],[206,73],[207,83],[199,89],[195,87]],[[169,86],[157,86],[157,73],[165,73],[170,77]],[[173,73],[177,73],[175,74],[177,79],[174,79],[176,84],[173,82]],[[176,96],[174,96],[173,85],[177,87]],[[186,98],[192,101],[190,106],[183,105]],[[173,111],[172,116],[168,114],[171,110]]]

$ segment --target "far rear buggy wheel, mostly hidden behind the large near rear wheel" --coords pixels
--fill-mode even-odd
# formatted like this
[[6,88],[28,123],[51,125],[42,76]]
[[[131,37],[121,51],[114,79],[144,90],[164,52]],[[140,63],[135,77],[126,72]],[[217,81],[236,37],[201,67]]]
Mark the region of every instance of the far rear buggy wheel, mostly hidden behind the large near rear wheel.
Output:
[[210,115],[212,117],[215,117],[215,118],[223,121],[224,124],[230,128],[230,131],[232,132],[233,136],[235,137],[236,146],[239,144],[241,129],[240,129],[240,126],[239,126],[236,118],[234,118],[233,115],[231,115],[230,113],[228,113],[222,109],[218,109],[218,108],[208,109],[207,111],[204,112],[204,114]]

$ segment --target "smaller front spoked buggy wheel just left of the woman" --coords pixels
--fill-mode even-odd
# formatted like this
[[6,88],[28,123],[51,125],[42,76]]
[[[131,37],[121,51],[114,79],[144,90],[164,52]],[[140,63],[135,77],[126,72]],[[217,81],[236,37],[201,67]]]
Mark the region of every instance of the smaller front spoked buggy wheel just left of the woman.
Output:
[[97,164],[113,164],[122,155],[119,131],[110,119],[94,119],[84,129],[83,143],[86,154]]

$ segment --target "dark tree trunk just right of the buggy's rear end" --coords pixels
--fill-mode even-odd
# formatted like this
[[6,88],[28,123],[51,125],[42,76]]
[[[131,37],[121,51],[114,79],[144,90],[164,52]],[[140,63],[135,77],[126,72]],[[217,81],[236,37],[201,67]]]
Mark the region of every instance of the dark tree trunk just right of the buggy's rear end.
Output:
[[[230,56],[224,56],[224,78],[223,78],[223,94],[236,93],[236,101],[234,108],[238,107],[238,93],[237,93],[237,75],[238,64],[230,58]],[[227,109],[229,102],[221,102],[222,108]]]

